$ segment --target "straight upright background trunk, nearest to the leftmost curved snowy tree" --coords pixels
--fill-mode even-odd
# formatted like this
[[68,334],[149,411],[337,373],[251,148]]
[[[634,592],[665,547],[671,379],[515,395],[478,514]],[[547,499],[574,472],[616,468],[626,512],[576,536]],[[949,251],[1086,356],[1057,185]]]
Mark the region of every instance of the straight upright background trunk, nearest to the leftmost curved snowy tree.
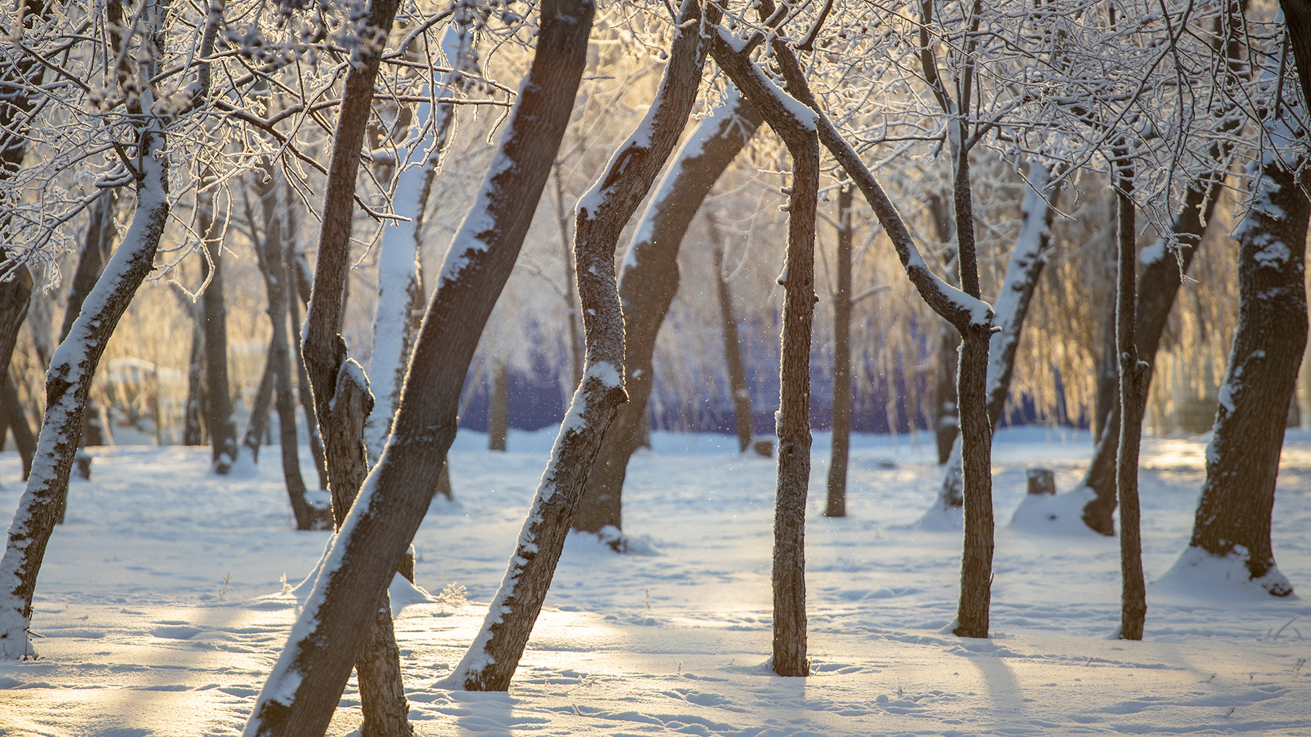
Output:
[[237,428],[232,419],[232,395],[228,390],[228,312],[223,301],[222,238],[215,238],[214,192],[197,195],[197,220],[208,253],[210,285],[202,297],[205,305],[205,427],[214,446],[214,473],[227,474],[237,458]]

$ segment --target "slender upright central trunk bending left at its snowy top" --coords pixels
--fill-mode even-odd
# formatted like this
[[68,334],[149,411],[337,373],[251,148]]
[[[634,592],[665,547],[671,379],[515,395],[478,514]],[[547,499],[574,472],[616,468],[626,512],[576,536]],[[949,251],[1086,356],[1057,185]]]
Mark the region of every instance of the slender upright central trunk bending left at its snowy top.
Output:
[[[762,12],[766,9],[762,7]],[[815,114],[771,82],[751,59],[734,51],[728,31],[712,37],[716,63],[788,147],[792,187],[783,285],[783,347],[779,369],[777,486],[773,507],[773,672],[809,675],[806,657],[805,524],[810,484],[810,335],[814,319],[815,207],[819,141]],[[777,46],[783,46],[781,42]],[[777,46],[775,52],[777,54]],[[787,48],[784,46],[784,48]],[[788,50],[791,52],[791,50]]]

